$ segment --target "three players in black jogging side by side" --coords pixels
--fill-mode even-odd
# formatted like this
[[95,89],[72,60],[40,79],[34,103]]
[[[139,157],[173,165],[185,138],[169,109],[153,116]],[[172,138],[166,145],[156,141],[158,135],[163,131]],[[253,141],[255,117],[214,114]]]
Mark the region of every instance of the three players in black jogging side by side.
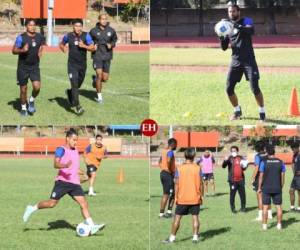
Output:
[[[68,51],[68,76],[71,88],[66,95],[76,114],[81,115],[84,109],[79,102],[79,89],[84,82],[87,69],[87,51],[92,53],[93,68],[96,72],[93,87],[96,89],[95,101],[103,103],[102,84],[109,78],[113,48],[116,46],[116,31],[109,26],[107,15],[99,15],[99,22],[89,33],[83,31],[81,19],[73,20],[73,31],[66,34],[59,47],[62,52]],[[12,53],[18,55],[17,84],[20,86],[20,113],[22,116],[36,112],[35,99],[41,89],[40,58],[42,57],[45,38],[36,32],[36,22],[28,19],[25,22],[26,32],[19,35]],[[28,80],[32,82],[32,93],[27,100]]]

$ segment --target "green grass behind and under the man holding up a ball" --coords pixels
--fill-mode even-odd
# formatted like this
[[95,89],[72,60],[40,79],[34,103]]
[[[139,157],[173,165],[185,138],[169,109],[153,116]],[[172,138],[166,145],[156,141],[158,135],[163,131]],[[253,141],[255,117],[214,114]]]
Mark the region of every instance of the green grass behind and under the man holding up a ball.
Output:
[[[159,56],[160,55],[160,56]],[[300,49],[257,49],[258,66],[299,66]],[[151,49],[151,63],[160,65],[224,66],[230,52],[218,49]],[[181,125],[243,125],[256,124],[258,107],[249,83],[243,80],[236,93],[244,119],[229,121],[233,108],[225,93],[227,70],[224,73],[164,72],[151,70],[150,115],[159,124]],[[264,73],[260,87],[265,97],[267,124],[299,124],[300,119],[288,117],[292,87],[299,85],[299,73]]]

